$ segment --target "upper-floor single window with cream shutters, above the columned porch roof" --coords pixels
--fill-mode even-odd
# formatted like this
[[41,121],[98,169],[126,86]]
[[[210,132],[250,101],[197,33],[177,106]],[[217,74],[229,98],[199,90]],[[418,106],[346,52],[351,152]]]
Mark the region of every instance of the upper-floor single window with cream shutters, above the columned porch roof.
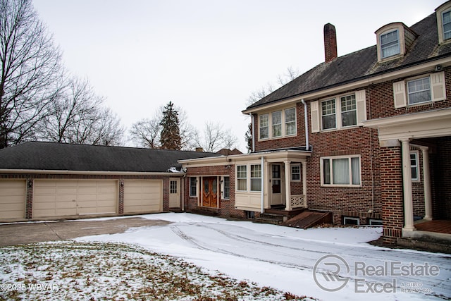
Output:
[[445,73],[436,72],[421,78],[393,82],[395,108],[428,104],[446,99]]

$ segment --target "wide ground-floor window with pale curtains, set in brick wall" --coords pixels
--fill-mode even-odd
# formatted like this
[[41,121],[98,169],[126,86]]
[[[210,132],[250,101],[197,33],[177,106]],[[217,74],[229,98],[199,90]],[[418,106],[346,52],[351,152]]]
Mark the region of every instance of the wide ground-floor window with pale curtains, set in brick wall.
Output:
[[360,156],[321,158],[321,185],[360,186]]

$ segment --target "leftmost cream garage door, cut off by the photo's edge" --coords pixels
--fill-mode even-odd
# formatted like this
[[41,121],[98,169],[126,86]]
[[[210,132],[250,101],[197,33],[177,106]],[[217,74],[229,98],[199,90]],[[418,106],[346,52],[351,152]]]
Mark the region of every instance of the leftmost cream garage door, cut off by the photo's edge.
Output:
[[25,180],[0,180],[0,219],[25,219]]

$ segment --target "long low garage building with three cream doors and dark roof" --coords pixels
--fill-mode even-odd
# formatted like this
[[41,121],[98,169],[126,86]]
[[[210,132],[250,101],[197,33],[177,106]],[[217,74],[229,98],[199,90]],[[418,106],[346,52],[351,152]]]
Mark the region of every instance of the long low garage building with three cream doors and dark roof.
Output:
[[218,154],[25,142],[0,149],[0,221],[183,210],[179,159]]

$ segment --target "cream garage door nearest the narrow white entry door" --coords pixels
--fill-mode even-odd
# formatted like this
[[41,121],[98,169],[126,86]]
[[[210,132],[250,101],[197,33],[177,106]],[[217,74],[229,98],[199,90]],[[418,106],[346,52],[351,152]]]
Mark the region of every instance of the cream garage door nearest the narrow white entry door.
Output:
[[124,180],[124,213],[149,213],[162,210],[162,180]]

